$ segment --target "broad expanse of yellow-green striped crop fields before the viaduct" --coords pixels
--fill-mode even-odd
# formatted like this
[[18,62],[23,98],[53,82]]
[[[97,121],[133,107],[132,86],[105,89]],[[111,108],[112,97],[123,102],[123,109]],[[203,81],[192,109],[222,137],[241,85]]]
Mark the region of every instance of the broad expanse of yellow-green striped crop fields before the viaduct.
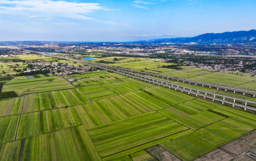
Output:
[[156,145],[194,160],[256,129],[253,113],[106,71],[18,78],[3,89],[23,95],[0,100],[0,160],[156,160],[146,151]]

